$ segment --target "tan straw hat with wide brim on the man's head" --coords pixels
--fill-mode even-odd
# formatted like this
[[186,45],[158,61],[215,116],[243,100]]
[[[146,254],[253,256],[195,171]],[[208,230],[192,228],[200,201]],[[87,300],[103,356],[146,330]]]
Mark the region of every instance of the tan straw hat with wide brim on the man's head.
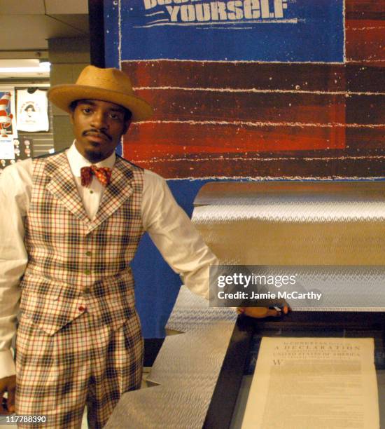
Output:
[[75,84],[52,86],[48,99],[68,113],[75,100],[102,100],[132,111],[132,121],[143,121],[153,114],[150,104],[134,94],[130,78],[118,69],[87,66]]

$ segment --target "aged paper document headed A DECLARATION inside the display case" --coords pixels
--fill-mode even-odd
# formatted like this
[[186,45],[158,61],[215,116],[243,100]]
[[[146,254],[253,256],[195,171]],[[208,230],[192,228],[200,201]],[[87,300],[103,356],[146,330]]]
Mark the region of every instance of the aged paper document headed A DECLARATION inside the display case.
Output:
[[262,338],[242,429],[377,429],[372,338]]

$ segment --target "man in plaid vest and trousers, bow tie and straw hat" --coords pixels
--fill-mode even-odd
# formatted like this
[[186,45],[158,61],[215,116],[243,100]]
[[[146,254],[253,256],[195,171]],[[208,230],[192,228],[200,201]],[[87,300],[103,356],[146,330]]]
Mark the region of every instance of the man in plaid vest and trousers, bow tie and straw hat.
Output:
[[[116,156],[130,122],[152,112],[123,72],[89,66],[76,84],[53,87],[48,97],[69,112],[75,141],[1,177],[0,203],[8,207],[0,218],[2,412],[43,414],[45,427],[78,428],[87,404],[90,427],[102,428],[120,395],[141,382],[130,261],[144,231],[205,297],[216,258],[165,181]],[[15,389],[9,348],[20,297]]]

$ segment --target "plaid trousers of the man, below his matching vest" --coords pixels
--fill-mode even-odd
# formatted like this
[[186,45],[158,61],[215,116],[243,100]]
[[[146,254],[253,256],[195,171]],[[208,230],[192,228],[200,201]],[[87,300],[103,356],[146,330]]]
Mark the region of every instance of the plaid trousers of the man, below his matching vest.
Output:
[[22,318],[16,349],[16,412],[47,416],[43,428],[80,428],[85,405],[89,427],[102,428],[120,395],[141,384],[136,314],[114,331],[84,313],[52,336]]

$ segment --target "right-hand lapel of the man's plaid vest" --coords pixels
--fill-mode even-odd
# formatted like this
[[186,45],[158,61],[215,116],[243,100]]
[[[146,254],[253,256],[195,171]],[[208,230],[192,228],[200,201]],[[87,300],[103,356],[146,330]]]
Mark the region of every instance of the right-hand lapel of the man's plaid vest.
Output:
[[132,195],[132,179],[134,174],[130,164],[116,157],[116,163],[111,175],[111,182],[106,187],[99,210],[94,220],[88,226],[88,233],[97,228],[102,222],[116,212],[118,208]]

